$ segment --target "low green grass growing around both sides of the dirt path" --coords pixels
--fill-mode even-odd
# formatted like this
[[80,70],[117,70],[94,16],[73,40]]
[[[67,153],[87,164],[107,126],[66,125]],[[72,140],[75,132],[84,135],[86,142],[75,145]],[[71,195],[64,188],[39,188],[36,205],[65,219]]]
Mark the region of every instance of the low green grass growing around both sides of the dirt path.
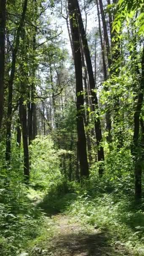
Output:
[[[8,240],[5,235],[0,238],[1,255],[19,256],[21,252],[31,255],[33,248],[45,248],[56,232],[57,214],[64,214],[73,223],[78,222],[85,231],[95,228],[104,232],[111,246],[123,244],[132,255],[144,255],[142,206],[135,205],[131,193],[118,192],[110,186],[106,189],[105,184],[98,182],[94,187],[88,181],[81,186],[69,184],[68,188],[61,184],[49,191],[29,189],[28,202],[22,205],[24,213],[14,219],[9,217],[13,226],[8,231],[14,235],[18,230],[18,235],[15,240]],[[28,205],[29,213],[26,212]]]

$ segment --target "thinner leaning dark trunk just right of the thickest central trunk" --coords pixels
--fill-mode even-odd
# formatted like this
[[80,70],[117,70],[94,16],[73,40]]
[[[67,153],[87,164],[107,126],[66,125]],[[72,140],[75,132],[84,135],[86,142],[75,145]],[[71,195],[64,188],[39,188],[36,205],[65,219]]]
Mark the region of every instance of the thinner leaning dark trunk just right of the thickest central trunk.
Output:
[[[90,51],[88,48],[88,41],[87,41],[87,37],[85,35],[85,28],[83,25],[83,19],[81,16],[78,1],[74,0],[74,3],[75,4],[73,5],[73,11],[77,14],[77,22],[78,22],[78,26],[80,29],[82,42],[83,42],[83,50],[84,50],[84,54],[85,54],[85,61],[86,61],[87,70],[88,70],[89,84],[90,84],[90,88],[91,88],[93,112],[95,112],[95,108],[96,108],[96,113],[98,114],[98,117],[95,118],[95,120],[94,120],[96,141],[97,141],[97,147],[98,147],[98,161],[103,161],[104,160],[104,149],[101,146],[102,132],[101,132],[101,123],[100,123],[100,119],[99,119],[98,99],[97,99],[96,93],[94,92],[95,81],[94,81],[93,68],[92,68],[92,63],[91,63],[91,55],[90,55]],[[102,165],[100,165],[99,175],[102,175],[103,171],[104,171],[104,169],[103,169]]]

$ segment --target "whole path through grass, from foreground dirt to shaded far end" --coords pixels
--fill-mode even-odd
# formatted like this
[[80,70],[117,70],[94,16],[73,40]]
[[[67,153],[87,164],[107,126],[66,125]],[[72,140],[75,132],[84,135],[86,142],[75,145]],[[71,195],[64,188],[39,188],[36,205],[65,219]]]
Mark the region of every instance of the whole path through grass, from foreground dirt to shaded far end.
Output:
[[[50,197],[51,198],[51,197]],[[27,252],[28,256],[136,256],[133,249],[125,246],[108,226],[85,221],[88,216],[85,209],[88,205],[74,194],[67,194],[49,201],[45,197],[38,204],[45,211],[45,221],[40,237]],[[76,210],[78,200],[80,212]],[[75,208],[75,209],[74,209]],[[74,211],[75,213],[72,213]],[[91,215],[91,214],[90,214]],[[99,209],[98,209],[99,215]],[[91,216],[90,216],[91,217]],[[94,218],[94,217],[93,217]],[[98,218],[98,216],[97,216]],[[115,216],[114,216],[115,218]],[[109,222],[109,225],[112,223]]]

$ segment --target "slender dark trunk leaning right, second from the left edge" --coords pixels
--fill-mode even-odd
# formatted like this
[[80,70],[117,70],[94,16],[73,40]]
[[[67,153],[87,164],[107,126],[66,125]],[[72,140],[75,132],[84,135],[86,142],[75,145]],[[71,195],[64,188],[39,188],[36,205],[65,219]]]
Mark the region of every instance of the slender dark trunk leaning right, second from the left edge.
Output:
[[24,26],[24,19],[27,11],[27,1],[28,0],[24,0],[24,7],[21,15],[21,20],[16,33],[16,46],[13,49],[13,53],[12,53],[11,74],[10,74],[10,79],[8,81],[8,112],[7,112],[7,125],[6,125],[7,131],[6,131],[6,153],[5,153],[5,159],[6,161],[8,161],[8,163],[10,163],[10,159],[11,159],[11,121],[12,121],[13,80],[14,80],[14,75],[16,70],[16,56],[19,50],[21,30]]

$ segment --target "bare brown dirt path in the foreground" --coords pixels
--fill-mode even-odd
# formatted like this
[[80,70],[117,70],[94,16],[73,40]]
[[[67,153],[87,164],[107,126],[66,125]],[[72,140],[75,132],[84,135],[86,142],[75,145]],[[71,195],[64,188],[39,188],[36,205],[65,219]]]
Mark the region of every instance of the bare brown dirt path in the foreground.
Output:
[[32,256],[132,256],[120,243],[111,244],[106,231],[85,227],[70,217],[55,217],[54,235],[44,241],[40,250],[35,248]]

